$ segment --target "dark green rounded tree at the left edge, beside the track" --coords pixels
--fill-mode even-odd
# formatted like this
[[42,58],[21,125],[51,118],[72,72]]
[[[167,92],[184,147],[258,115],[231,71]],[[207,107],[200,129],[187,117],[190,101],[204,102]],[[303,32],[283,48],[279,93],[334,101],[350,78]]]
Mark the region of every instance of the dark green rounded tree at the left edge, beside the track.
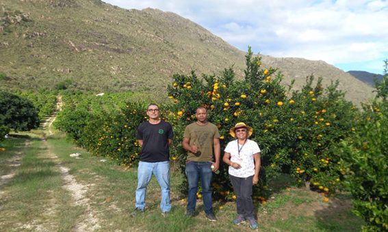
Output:
[[38,111],[29,100],[0,91],[0,125],[16,132],[37,128]]

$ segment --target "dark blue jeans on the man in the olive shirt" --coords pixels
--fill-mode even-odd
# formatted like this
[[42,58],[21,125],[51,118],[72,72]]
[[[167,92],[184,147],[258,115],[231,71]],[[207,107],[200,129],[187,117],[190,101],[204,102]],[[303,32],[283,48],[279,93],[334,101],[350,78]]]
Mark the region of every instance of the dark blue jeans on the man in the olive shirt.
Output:
[[206,214],[214,214],[211,206],[211,162],[194,162],[186,164],[187,182],[189,182],[189,196],[187,212],[194,212],[196,206],[196,192],[198,191],[198,180],[201,179],[203,205]]

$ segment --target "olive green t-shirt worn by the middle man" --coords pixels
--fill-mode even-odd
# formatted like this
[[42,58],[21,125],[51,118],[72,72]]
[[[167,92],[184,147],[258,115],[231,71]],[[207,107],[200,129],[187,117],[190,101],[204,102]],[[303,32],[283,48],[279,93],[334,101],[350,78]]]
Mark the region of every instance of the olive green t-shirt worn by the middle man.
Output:
[[195,122],[186,126],[183,137],[189,139],[189,145],[196,145],[198,153],[192,154],[187,151],[187,160],[205,162],[213,161],[213,139],[220,138],[220,133],[216,125],[207,122],[199,126]]

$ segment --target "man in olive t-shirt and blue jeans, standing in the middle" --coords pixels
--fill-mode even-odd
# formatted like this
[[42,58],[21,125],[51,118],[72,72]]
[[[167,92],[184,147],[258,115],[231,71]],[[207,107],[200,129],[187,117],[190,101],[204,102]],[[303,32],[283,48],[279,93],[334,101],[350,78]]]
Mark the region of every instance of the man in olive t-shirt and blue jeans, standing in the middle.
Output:
[[207,121],[205,107],[197,108],[195,115],[197,121],[185,128],[182,142],[187,151],[186,175],[189,184],[186,214],[194,216],[198,180],[201,179],[206,218],[216,221],[211,203],[211,179],[212,172],[218,171],[220,166],[220,133],[216,125]]

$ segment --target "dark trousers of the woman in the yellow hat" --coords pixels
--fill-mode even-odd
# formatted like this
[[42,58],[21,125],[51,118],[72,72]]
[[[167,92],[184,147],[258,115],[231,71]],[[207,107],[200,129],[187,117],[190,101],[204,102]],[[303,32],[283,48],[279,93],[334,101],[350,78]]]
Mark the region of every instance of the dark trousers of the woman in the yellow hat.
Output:
[[233,191],[237,197],[237,214],[244,216],[246,219],[254,218],[252,201],[253,175],[246,178],[229,175],[229,178],[231,179]]

